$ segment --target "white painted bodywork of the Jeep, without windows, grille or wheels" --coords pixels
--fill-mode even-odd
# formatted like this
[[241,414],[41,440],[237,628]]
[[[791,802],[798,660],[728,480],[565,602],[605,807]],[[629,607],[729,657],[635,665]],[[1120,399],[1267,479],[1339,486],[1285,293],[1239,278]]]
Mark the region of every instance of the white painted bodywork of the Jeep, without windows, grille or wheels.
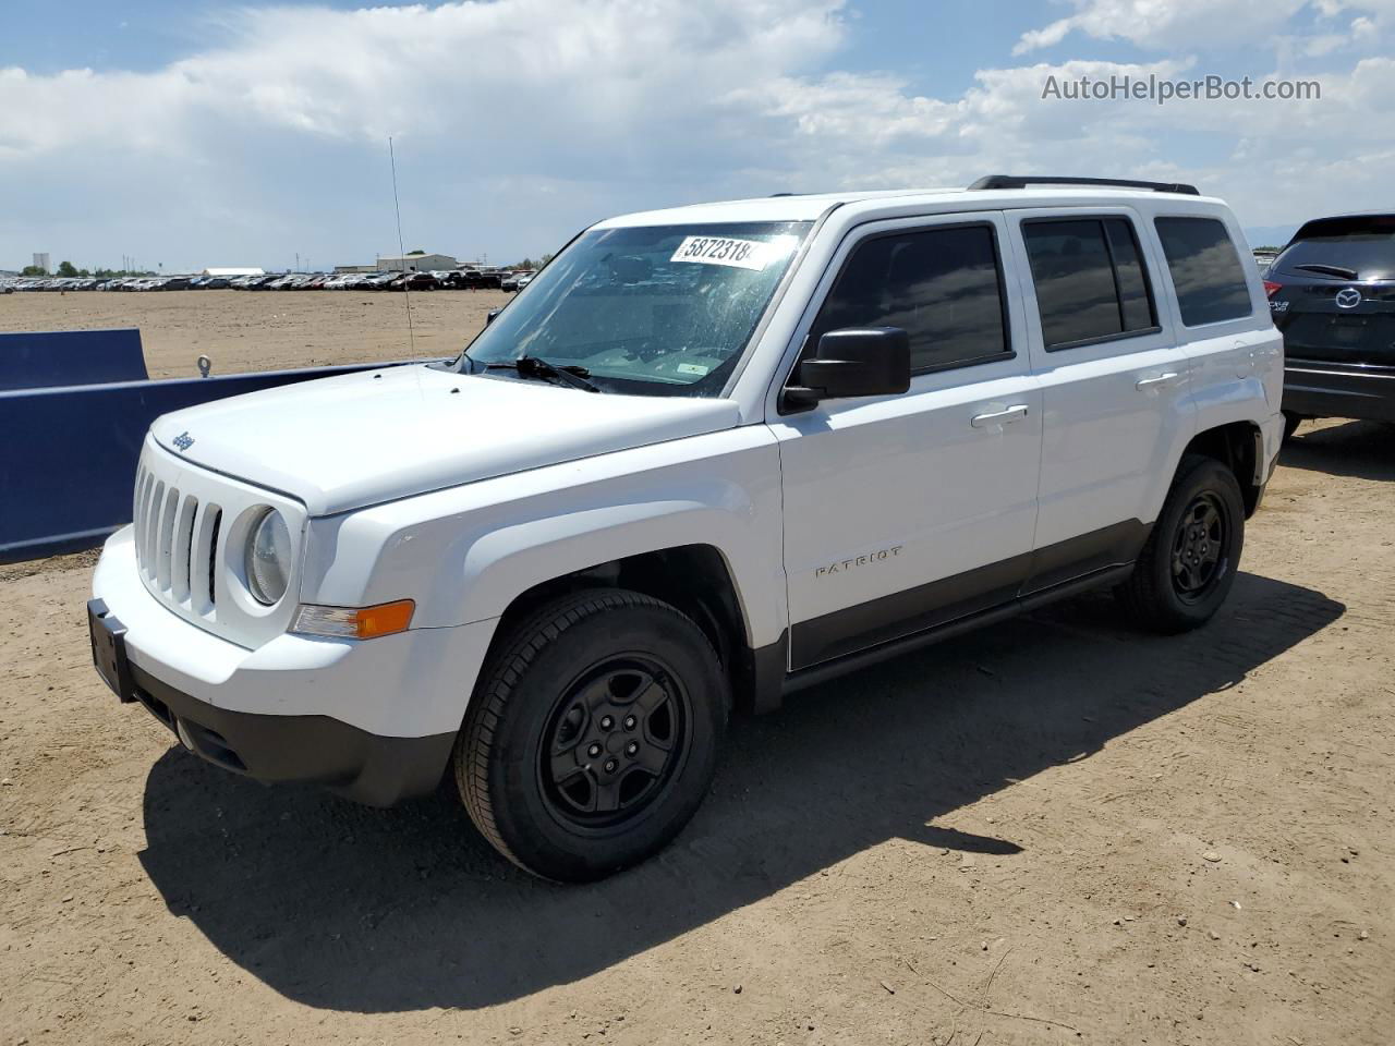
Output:
[[[1158,335],[1042,351],[1016,229],[1027,212],[1062,209],[1136,218]],[[971,212],[999,230],[1016,357],[919,375],[904,396],[780,416],[780,389],[850,237]],[[152,427],[152,456],[205,497],[222,485],[240,506],[261,492],[285,505],[299,530],[293,591],[257,628],[181,615],[142,584],[123,530],[103,551],[95,594],[130,629],[133,661],[199,700],[427,736],[459,727],[499,615],[520,593],[621,556],[716,548],[745,642],[766,647],[792,623],[1151,522],[1194,432],[1256,424],[1265,467],[1282,434],[1282,343],[1257,272],[1253,317],[1184,328],[1158,213],[1219,218],[1246,250],[1219,201],[1070,187],[787,197],[611,219],[603,225],[813,223],[721,397],[597,396],[402,367],[180,411]],[[1166,389],[1136,388],[1172,371]],[[1017,404],[1018,421],[970,424]],[[170,448],[184,432],[194,442],[179,455]],[[815,583],[820,566],[890,545],[903,552],[889,569]],[[265,626],[289,619],[297,600],[399,598],[416,600],[412,629],[365,643]]]

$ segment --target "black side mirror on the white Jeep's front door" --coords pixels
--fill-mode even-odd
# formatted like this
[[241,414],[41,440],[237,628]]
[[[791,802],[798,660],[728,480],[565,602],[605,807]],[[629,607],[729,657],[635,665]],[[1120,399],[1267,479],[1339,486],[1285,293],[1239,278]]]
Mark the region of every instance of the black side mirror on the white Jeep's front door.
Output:
[[799,364],[785,403],[806,410],[823,399],[891,396],[911,388],[911,338],[898,326],[829,331]]

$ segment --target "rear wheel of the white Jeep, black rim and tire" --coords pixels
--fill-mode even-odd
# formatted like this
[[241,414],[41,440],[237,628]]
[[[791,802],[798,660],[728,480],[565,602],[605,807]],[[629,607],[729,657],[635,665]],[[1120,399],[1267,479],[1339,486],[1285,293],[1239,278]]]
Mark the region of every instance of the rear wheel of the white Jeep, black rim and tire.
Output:
[[1134,623],[1176,635],[1225,602],[1244,548],[1240,484],[1214,457],[1187,455],[1129,580],[1115,593]]

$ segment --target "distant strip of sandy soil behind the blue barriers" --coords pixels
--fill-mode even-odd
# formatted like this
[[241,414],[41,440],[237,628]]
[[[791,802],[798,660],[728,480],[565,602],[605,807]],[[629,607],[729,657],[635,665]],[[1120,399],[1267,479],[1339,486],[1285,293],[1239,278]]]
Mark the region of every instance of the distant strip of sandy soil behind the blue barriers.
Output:
[[0,331],[138,326],[152,378],[195,378],[199,354],[215,374],[455,356],[508,301],[501,290],[402,294],[186,290],[3,294]]

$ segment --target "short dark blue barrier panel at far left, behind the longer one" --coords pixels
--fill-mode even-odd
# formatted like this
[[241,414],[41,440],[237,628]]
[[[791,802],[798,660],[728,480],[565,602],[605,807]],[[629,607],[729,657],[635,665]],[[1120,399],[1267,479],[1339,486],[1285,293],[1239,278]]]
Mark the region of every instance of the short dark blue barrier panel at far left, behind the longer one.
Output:
[[146,377],[141,332],[135,328],[0,333],[0,391]]

